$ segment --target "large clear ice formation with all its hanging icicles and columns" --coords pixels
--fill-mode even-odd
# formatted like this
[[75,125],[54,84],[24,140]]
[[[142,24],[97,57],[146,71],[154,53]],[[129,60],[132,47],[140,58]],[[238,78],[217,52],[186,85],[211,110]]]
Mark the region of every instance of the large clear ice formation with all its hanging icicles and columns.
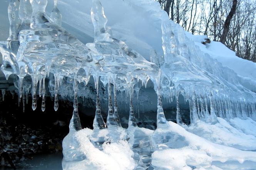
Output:
[[[190,125],[196,125],[199,121],[214,125],[218,123],[217,117],[226,120],[235,117],[255,118],[255,92],[244,87],[233,70],[223,67],[197,49],[194,42],[186,37],[184,29],[170,21],[156,3],[147,5],[151,5],[149,9],[156,10],[157,16],[161,18],[164,56],[158,56],[155,50],[151,50],[149,62],[124,41],[112,35],[111,29],[106,28],[107,17],[100,0],[92,1],[92,43],[80,42],[61,26],[62,14],[57,8],[57,0],[54,0],[50,17],[45,13],[47,0],[10,0],[10,36],[6,41],[0,42],[3,60],[1,70],[6,79],[11,74],[17,75],[15,86],[18,89],[19,103],[22,98],[23,111],[30,88],[33,110],[37,108],[37,93],[42,97],[41,109],[45,110],[46,78],[54,86],[54,109],[57,110],[58,96],[62,95],[59,90],[62,80],[65,77],[74,80],[74,112],[70,120],[70,132],[63,140],[64,169],[72,168],[76,161],[87,159],[79,150],[80,144],[75,133],[82,129],[78,114],[77,98],[80,96],[77,82],[87,85],[90,78],[94,79],[97,92],[90,142],[102,150],[104,143],[127,140],[134,152],[137,168],[151,167],[151,154],[155,150],[188,145],[182,135],[170,130],[162,107],[162,97],[168,101],[176,98],[177,124],[184,128],[187,125],[182,122],[179,95],[189,103]],[[147,1],[140,0],[140,3],[145,4]],[[54,77],[51,78],[51,74]],[[138,101],[141,86],[146,87],[149,80],[153,82],[157,94],[157,129],[152,136],[137,127],[133,105],[134,91]],[[100,110],[99,81],[107,87],[108,92],[106,123]],[[127,129],[122,128],[120,123],[117,91],[125,92],[129,98]],[[2,90],[2,95],[4,100],[5,89]]]

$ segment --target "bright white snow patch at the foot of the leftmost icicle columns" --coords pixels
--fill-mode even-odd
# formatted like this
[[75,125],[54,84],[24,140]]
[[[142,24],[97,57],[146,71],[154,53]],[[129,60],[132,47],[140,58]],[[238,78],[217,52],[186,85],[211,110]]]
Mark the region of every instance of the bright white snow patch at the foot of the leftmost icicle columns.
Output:
[[104,143],[103,150],[100,151],[90,142],[92,132],[93,130],[85,128],[75,134],[80,143],[80,151],[87,157],[87,162],[84,163],[91,165],[90,168],[101,170],[132,170],[134,168],[133,152],[127,141]]

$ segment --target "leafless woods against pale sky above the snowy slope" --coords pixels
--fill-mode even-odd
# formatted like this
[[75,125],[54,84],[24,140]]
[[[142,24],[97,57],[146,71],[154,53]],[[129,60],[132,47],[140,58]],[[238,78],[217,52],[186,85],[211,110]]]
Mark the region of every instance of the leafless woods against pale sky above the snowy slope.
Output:
[[256,62],[256,0],[156,1],[186,31],[207,35],[237,56]]

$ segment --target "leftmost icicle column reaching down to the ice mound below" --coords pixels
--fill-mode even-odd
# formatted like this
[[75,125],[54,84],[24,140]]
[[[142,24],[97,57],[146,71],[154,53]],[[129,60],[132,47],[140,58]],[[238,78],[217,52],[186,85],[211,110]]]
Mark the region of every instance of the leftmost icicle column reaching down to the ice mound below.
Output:
[[76,79],[76,74],[75,73],[74,73],[73,87],[74,87],[74,103],[73,103],[74,111],[73,111],[73,115],[72,115],[72,118],[71,118],[70,124],[69,124],[69,132],[72,131],[72,130],[78,131],[78,130],[82,129],[79,114],[78,114],[77,79]]

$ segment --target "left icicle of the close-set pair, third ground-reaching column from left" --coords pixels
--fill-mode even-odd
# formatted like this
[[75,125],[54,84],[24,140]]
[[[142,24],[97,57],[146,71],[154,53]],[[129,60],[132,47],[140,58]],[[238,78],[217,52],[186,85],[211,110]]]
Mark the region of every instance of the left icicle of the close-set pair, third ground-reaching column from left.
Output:
[[107,85],[107,92],[109,94],[109,111],[107,114],[107,127],[109,126],[117,126],[117,122],[115,121],[114,112],[113,112],[113,105],[112,105],[112,98],[111,98],[111,77],[108,76],[108,85]]

